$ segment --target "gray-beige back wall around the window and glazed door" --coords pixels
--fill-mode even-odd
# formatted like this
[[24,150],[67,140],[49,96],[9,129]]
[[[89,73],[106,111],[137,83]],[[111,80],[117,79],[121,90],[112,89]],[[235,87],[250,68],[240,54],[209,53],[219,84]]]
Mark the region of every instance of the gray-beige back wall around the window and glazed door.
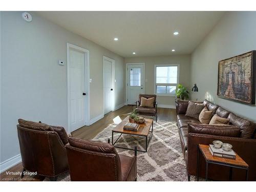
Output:
[[[138,62],[145,63],[145,94],[154,94],[154,65],[157,64],[180,64],[180,83],[186,87],[190,85],[190,55],[124,58],[124,63]],[[158,104],[175,105],[175,97],[157,96],[157,100]]]

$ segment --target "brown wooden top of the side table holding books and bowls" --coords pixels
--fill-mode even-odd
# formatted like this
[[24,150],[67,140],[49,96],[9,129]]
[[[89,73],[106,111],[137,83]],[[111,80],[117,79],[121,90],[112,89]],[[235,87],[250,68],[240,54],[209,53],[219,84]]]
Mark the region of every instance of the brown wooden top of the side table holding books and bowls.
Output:
[[207,161],[221,162],[225,164],[248,167],[248,164],[237,154],[236,159],[228,159],[223,157],[212,156],[209,151],[209,145],[199,144],[199,148]]

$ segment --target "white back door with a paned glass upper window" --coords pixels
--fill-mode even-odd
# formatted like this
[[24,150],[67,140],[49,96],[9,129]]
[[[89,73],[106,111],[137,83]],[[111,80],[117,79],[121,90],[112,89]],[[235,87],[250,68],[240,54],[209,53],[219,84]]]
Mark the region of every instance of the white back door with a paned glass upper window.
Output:
[[139,94],[144,93],[144,65],[127,65],[127,104],[135,104]]

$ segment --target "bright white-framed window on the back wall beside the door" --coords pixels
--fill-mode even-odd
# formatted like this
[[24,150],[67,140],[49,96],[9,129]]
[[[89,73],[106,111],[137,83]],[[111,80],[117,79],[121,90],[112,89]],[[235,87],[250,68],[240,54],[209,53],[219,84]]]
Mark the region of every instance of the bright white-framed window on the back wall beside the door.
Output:
[[155,65],[155,93],[160,96],[175,96],[179,83],[179,65]]

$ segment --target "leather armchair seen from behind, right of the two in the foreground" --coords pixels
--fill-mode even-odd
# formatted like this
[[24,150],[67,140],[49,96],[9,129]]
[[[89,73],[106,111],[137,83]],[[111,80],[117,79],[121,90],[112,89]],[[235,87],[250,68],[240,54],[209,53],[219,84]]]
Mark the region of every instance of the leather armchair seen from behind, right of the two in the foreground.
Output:
[[118,155],[109,143],[74,137],[66,145],[72,181],[135,181],[136,157]]

